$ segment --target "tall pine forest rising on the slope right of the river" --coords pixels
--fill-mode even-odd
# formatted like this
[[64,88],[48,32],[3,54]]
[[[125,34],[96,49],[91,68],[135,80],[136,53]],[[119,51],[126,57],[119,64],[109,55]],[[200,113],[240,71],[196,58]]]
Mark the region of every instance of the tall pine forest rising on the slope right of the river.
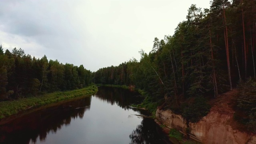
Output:
[[255,78],[255,0],[212,0],[203,10],[192,4],[186,18],[172,36],[154,38],[152,51],[141,50],[139,61],[100,68],[93,82],[134,85],[152,102],[165,100],[172,110],[196,118],[209,110],[205,98]]

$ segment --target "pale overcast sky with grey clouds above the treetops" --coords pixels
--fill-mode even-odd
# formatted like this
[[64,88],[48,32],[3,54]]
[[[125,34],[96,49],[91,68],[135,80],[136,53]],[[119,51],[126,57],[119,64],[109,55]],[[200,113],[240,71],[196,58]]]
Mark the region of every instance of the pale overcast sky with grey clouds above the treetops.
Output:
[[0,44],[91,71],[116,66],[173,35],[191,4],[210,0],[0,0]]

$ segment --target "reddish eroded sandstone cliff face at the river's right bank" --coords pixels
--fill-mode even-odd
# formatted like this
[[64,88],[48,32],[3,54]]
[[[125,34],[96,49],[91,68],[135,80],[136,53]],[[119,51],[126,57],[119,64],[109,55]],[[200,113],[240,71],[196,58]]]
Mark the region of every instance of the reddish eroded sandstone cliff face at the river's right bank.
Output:
[[256,134],[240,132],[235,128],[234,111],[228,105],[226,94],[222,94],[221,96],[226,97],[220,98],[207,116],[197,123],[187,124],[181,115],[174,114],[171,110],[157,109],[156,118],[168,128],[176,128],[203,144],[256,144]]

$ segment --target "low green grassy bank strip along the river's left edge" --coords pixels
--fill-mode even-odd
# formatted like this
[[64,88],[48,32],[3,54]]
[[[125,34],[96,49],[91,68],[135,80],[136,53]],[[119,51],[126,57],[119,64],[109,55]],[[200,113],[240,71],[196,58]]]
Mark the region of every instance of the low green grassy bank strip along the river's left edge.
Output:
[[97,91],[97,86],[92,85],[79,90],[72,90],[67,92],[53,92],[49,94],[43,94],[37,97],[20,98],[18,100],[0,102],[0,119],[10,116],[12,114],[16,114],[22,110],[26,110],[31,107],[38,107],[44,104],[58,102],[78,96],[90,96]]

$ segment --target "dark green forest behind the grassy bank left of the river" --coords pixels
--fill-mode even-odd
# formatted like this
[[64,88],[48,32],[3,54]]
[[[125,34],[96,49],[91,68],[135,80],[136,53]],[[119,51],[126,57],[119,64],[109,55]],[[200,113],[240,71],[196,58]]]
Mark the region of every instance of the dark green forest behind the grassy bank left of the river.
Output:
[[91,72],[83,65],[41,59],[0,45],[0,101],[37,96],[40,93],[83,88],[91,84]]

